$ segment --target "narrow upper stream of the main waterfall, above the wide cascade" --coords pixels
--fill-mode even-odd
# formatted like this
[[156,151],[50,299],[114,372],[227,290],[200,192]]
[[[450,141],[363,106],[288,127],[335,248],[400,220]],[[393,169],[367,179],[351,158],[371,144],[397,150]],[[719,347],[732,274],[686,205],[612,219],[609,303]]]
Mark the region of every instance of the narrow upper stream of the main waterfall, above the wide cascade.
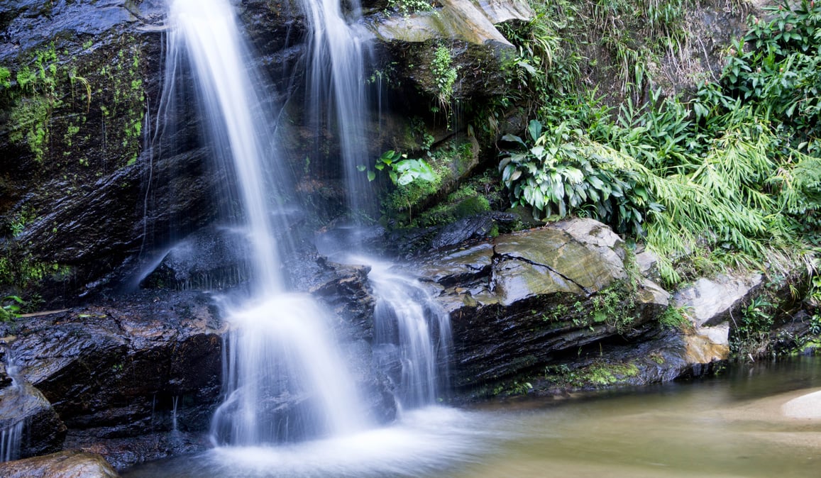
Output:
[[[200,99],[215,148],[232,158],[240,184],[245,225],[255,257],[259,294],[282,289],[279,258],[273,240],[271,201],[265,188],[273,125],[256,116],[259,98],[244,61],[246,50],[231,5],[223,0],[172,0],[172,36],[181,35],[200,83]],[[172,39],[172,44],[177,39]]]

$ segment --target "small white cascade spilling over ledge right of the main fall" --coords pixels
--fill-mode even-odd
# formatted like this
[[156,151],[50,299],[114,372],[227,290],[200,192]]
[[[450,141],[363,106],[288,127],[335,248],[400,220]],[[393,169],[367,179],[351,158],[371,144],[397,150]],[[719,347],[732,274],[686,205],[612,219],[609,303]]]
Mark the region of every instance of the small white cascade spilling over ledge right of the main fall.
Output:
[[397,387],[403,409],[437,402],[447,391],[452,347],[450,316],[420,282],[374,263],[368,275],[377,296],[374,358]]

